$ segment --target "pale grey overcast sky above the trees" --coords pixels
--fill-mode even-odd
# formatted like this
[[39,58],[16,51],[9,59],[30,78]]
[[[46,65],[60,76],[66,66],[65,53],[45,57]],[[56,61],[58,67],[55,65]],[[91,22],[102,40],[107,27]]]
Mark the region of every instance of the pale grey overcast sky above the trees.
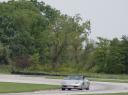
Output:
[[43,0],[64,14],[79,13],[92,23],[91,38],[128,35],[128,0]]

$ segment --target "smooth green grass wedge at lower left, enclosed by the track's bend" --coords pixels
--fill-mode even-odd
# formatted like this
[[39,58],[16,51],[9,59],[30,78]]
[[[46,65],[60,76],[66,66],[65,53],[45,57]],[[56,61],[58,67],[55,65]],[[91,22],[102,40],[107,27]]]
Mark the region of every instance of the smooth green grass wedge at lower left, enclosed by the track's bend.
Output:
[[58,85],[0,82],[0,93],[32,92],[58,88],[60,88]]

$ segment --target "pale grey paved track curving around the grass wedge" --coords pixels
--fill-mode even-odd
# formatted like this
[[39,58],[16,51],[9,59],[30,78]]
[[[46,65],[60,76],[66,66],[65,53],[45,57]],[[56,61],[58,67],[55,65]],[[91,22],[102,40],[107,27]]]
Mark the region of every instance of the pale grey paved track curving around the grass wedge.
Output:
[[[46,79],[43,76],[0,74],[0,82],[60,85],[61,81],[62,81],[61,79]],[[92,81],[89,91],[87,90],[61,91],[60,89],[58,89],[58,90],[36,91],[36,92],[8,93],[8,94],[0,94],[0,95],[77,95],[77,94],[102,94],[102,93],[122,93],[122,92],[128,92],[128,83]]]

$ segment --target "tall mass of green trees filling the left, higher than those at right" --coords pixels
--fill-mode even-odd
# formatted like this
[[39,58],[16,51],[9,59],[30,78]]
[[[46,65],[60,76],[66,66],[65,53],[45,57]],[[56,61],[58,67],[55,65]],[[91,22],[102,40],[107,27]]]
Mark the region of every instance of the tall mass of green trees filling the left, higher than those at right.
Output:
[[0,62],[21,70],[48,66],[55,70],[62,64],[80,63],[82,43],[90,30],[90,22],[81,20],[37,0],[0,3],[0,57],[6,60]]

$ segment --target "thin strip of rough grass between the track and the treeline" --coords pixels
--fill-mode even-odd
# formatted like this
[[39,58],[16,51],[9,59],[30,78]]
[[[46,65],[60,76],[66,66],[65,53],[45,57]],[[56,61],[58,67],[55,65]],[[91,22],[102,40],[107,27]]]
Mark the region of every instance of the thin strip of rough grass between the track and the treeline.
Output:
[[[43,67],[41,67],[43,68]],[[23,71],[23,70],[22,70]],[[61,70],[62,71],[62,70]],[[4,74],[9,74],[11,72],[11,67],[9,65],[0,65],[0,73],[4,73]],[[29,70],[26,70],[25,72],[31,72]],[[46,72],[49,74],[62,74],[62,75],[85,75],[88,78],[102,78],[102,79],[128,79],[128,74],[103,74],[103,73],[89,73],[89,72],[79,72],[79,73],[73,73],[73,72],[68,72],[68,71],[53,71],[53,70],[48,70],[47,67],[47,71],[33,71],[33,72]]]

